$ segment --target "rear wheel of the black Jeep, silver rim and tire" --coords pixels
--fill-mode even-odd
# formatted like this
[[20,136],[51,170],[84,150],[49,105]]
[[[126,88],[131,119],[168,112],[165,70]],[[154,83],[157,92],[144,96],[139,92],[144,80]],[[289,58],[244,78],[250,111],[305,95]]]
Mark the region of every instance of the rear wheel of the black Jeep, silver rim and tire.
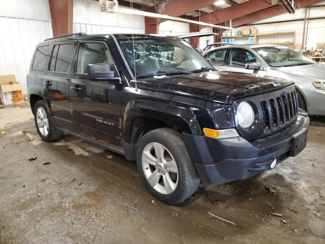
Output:
[[61,138],[62,133],[54,126],[44,100],[40,100],[35,104],[34,121],[37,132],[44,141],[56,141]]

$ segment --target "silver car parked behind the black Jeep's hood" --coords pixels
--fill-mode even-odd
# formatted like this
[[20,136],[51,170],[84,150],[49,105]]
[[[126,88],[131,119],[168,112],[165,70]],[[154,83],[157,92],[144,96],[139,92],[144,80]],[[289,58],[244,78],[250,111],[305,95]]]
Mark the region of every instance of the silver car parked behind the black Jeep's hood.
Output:
[[299,107],[313,115],[325,115],[325,64],[279,45],[231,45],[202,53],[220,71],[267,75],[293,80]]

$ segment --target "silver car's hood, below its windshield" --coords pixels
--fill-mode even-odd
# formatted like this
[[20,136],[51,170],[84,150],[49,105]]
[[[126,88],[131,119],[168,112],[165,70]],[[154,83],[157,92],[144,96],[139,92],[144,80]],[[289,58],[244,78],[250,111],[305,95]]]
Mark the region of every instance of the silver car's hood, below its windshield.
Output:
[[299,75],[307,75],[307,76],[325,80],[325,64],[280,67],[276,69],[280,71],[295,73]]

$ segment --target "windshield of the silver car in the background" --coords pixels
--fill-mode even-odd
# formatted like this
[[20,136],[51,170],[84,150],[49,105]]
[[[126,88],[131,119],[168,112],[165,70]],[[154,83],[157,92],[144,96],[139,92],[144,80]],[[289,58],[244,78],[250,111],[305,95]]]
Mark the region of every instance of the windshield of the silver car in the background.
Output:
[[288,47],[253,48],[271,67],[290,67],[314,64],[313,60]]

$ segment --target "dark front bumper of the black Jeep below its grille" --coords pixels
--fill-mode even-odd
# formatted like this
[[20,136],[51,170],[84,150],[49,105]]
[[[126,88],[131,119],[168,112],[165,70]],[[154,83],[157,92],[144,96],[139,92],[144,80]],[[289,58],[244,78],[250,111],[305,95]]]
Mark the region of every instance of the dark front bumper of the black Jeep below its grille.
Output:
[[215,139],[183,134],[194,166],[203,182],[222,184],[246,179],[295,157],[307,143],[308,114],[299,109],[296,122],[286,129],[247,141],[242,137]]

